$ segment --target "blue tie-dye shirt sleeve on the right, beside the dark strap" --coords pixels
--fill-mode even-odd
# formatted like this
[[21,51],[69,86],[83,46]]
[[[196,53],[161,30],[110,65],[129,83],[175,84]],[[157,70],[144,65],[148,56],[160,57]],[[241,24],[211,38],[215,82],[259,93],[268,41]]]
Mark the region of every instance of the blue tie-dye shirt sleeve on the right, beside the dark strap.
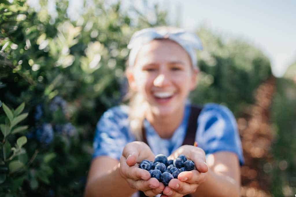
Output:
[[239,164],[244,164],[242,144],[237,122],[232,112],[219,104],[206,104],[197,120],[196,141],[206,155],[218,151],[230,151],[237,154]]

